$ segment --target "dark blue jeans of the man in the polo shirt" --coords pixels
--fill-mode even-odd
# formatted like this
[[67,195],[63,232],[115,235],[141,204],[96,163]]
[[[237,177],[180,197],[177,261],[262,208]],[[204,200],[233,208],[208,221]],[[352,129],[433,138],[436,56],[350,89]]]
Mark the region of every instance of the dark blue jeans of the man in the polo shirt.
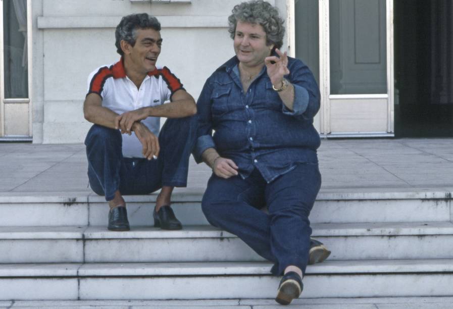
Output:
[[117,190],[130,195],[185,187],[196,125],[196,117],[167,119],[159,133],[157,160],[124,158],[121,132],[93,125],[85,139],[91,189],[109,201]]

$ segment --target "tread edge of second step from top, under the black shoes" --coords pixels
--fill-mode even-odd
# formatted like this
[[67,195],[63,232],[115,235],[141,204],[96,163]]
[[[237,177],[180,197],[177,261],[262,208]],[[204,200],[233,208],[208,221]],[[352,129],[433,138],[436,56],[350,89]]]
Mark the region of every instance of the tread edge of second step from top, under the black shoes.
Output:
[[[425,227],[420,222],[405,222],[404,227],[398,223],[320,223],[312,224],[312,237],[349,237],[349,236],[436,236],[453,235],[452,222],[430,222]],[[359,226],[361,225],[361,226]],[[374,226],[373,226],[374,225]],[[329,227],[331,226],[331,227]],[[21,231],[20,229],[24,230]],[[36,228],[36,230],[33,230]],[[45,230],[48,228],[49,230]],[[80,230],[77,230],[79,229]],[[11,229],[16,231],[11,231]],[[56,230],[58,229],[58,230]],[[135,230],[134,230],[135,229]],[[140,230],[143,229],[143,230]],[[3,230],[3,231],[2,231]],[[62,226],[62,227],[0,227],[0,239],[74,239],[74,240],[107,240],[107,239],[187,239],[187,238],[237,238],[236,235],[219,230],[209,225],[186,226],[179,231],[164,231],[154,227],[132,227],[131,231],[113,232],[105,226]]]

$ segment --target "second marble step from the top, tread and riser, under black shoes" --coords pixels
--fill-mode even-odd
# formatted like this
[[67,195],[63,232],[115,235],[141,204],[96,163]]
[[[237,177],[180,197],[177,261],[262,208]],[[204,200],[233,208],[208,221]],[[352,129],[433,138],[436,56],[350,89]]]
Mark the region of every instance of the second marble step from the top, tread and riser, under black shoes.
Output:
[[[313,224],[329,260],[453,259],[453,223]],[[211,226],[181,231],[102,226],[0,227],[0,263],[262,261],[236,236]]]

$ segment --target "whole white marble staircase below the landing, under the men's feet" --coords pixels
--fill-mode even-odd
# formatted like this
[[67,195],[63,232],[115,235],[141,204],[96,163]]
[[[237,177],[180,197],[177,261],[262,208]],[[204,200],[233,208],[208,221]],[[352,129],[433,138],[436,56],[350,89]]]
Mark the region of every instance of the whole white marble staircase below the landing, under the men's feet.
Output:
[[[208,225],[202,191],[176,193],[181,231],[152,227],[156,195],[127,196],[131,231],[106,229],[103,197],[0,196],[0,299],[273,298],[271,264]],[[309,266],[303,297],[453,295],[449,191],[321,192],[313,237],[332,254]]]

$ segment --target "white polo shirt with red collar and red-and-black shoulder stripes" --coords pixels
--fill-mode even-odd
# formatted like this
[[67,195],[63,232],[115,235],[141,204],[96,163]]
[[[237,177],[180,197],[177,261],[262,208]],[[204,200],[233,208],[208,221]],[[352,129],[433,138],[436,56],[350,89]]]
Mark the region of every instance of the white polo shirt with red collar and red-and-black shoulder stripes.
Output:
[[[172,94],[184,89],[179,79],[167,67],[149,72],[137,89],[126,76],[123,59],[111,66],[94,70],[88,77],[88,94],[96,93],[102,98],[102,106],[117,114],[142,107],[157,106],[169,102]],[[148,117],[141,121],[156,136],[159,134],[160,117]],[[135,133],[122,134],[123,157],[143,158],[142,145]]]

